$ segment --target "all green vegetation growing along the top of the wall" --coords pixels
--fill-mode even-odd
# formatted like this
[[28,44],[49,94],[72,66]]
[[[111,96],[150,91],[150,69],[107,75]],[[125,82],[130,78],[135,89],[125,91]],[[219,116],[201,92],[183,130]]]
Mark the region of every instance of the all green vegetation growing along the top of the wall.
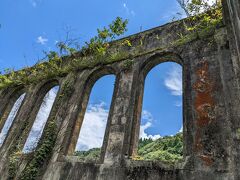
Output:
[[[222,9],[219,2],[212,6],[207,6],[204,0],[194,0],[191,1],[186,8],[191,15],[196,16],[187,19],[188,23],[185,25],[187,34],[179,33],[179,39],[172,42],[171,47],[183,45],[211,34],[216,26],[222,24]],[[202,9],[207,12],[200,13]],[[57,47],[60,53],[55,51],[46,53],[46,62],[19,71],[6,69],[4,75],[0,74],[0,89],[37,83],[40,80],[65,76],[70,71],[92,68],[96,65],[109,64],[127,58],[131,59],[134,55],[129,52],[118,50],[114,52],[107,51],[110,47],[109,42],[126,32],[127,23],[127,20],[122,20],[122,18],[117,17],[108,27],[104,27],[101,30],[97,29],[98,34],[91,38],[89,42],[86,42],[80,51],[69,47],[68,44],[64,42],[59,42]],[[132,47],[132,42],[129,39],[121,40],[120,43],[118,43],[118,46],[119,45],[134,48],[136,53],[142,53],[142,51],[140,51],[141,47]],[[143,41],[140,39],[139,46],[142,45]],[[62,52],[65,53],[64,56],[61,55]],[[128,66],[129,64],[125,65],[126,67],[130,67]]]

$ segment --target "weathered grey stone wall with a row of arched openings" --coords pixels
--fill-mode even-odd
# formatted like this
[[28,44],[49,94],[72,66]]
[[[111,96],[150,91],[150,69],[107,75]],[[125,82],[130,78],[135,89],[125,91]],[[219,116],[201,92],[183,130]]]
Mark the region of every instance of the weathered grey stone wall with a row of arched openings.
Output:
[[[69,72],[37,85],[0,90],[2,119],[20,94],[26,92],[0,149],[0,179],[18,179],[29,167],[34,152],[21,157],[15,177],[10,178],[8,157],[15,144],[26,141],[46,92],[59,85],[57,103],[49,116],[55,117],[56,139],[48,159],[38,169],[37,179],[239,180],[240,1],[223,1],[223,7],[224,25],[206,37],[169,46],[178,39],[177,31],[185,31],[183,21],[170,23],[128,37],[133,46],[118,49],[129,53],[121,61]],[[140,49],[135,45],[139,40]],[[184,161],[176,166],[129,158],[136,150],[144,79],[151,68],[166,61],[183,67]],[[130,68],[125,68],[126,62],[132,63]],[[92,86],[106,74],[115,74],[116,82],[101,159],[97,163],[79,162],[71,156],[76,132],[80,130]],[[66,90],[71,90],[68,98],[61,98]],[[26,122],[30,126],[24,126]]]

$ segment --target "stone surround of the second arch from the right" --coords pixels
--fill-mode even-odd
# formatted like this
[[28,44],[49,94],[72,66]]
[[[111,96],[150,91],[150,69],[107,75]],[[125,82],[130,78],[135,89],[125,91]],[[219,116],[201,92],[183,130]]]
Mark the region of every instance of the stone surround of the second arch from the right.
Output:
[[105,130],[105,135],[104,135],[104,140],[103,140],[103,145],[101,148],[101,159],[100,162],[103,161],[103,156],[105,153],[105,149],[106,149],[106,145],[107,145],[107,138],[108,138],[108,133],[109,133],[109,120],[111,119],[112,116],[112,104],[114,101],[114,96],[116,94],[116,89],[117,89],[117,82],[118,82],[118,70],[107,66],[107,67],[103,67],[103,68],[99,68],[99,69],[95,69],[93,70],[88,77],[86,78],[86,81],[84,83],[84,94],[82,95],[81,98],[81,102],[79,104],[79,109],[78,109],[78,117],[75,120],[75,125],[73,126],[73,129],[71,130],[71,140],[69,141],[69,145],[68,145],[68,149],[66,154],[67,155],[73,155],[76,144],[77,144],[77,140],[81,131],[81,125],[83,123],[83,119],[84,119],[84,115],[86,113],[86,108],[89,102],[89,98],[92,92],[92,88],[95,85],[95,83],[101,79],[102,77],[106,76],[106,75],[114,75],[115,76],[115,85],[114,85],[114,90],[113,90],[113,96],[112,96],[112,100],[111,100],[111,105],[110,105],[110,110],[109,110],[109,114],[108,114],[108,120],[107,120],[107,126],[106,126],[106,130]]

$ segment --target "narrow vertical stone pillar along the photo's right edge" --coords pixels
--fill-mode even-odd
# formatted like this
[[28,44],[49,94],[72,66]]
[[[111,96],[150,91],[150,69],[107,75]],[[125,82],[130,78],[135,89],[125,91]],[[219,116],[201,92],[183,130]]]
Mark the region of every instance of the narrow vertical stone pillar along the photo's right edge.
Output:
[[[240,179],[240,1],[239,0],[226,0],[223,1],[224,17],[227,28],[228,40],[230,41],[232,66],[234,76],[227,75],[227,68],[223,76],[228,77],[226,83],[226,95],[228,98],[229,116],[231,121],[232,132],[232,166],[230,167],[235,174],[236,179]],[[230,78],[230,79],[229,79]],[[226,79],[227,80],[227,79]]]

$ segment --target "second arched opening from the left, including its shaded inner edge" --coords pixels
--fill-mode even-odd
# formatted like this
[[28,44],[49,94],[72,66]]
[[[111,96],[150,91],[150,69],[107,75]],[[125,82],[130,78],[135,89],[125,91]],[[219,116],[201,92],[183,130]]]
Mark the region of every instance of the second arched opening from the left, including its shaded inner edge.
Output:
[[29,153],[35,150],[38,142],[41,139],[45,125],[50,117],[51,111],[54,107],[55,100],[59,93],[59,83],[57,80],[48,81],[44,83],[40,90],[37,92],[37,96],[40,98],[37,100],[37,111],[35,108],[35,117],[31,121],[31,130],[28,133],[23,153]]

